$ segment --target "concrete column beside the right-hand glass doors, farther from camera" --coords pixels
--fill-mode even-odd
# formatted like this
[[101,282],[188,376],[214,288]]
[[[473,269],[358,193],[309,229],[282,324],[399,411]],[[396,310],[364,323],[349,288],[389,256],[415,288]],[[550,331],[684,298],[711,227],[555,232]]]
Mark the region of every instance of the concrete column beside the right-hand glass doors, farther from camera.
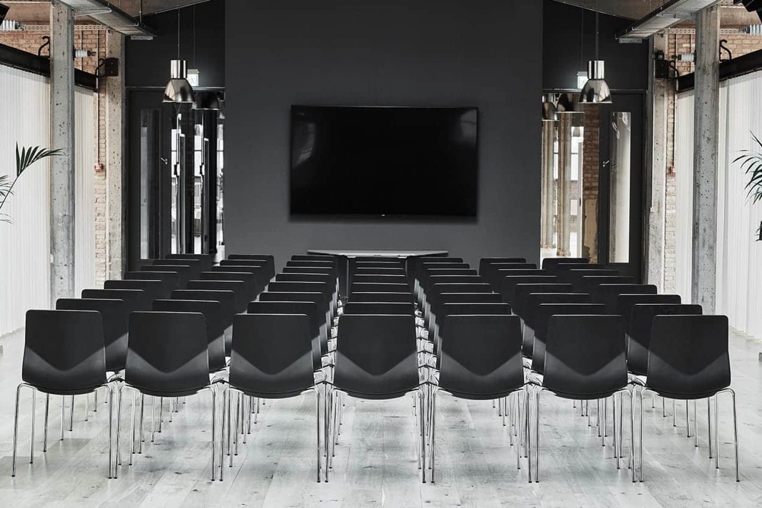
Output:
[[[667,36],[656,34],[649,41],[651,54],[667,53]],[[648,107],[646,119],[645,199],[648,215],[645,227],[645,280],[664,289],[664,225],[667,205],[667,105],[666,79],[654,77],[654,59],[648,63]]]

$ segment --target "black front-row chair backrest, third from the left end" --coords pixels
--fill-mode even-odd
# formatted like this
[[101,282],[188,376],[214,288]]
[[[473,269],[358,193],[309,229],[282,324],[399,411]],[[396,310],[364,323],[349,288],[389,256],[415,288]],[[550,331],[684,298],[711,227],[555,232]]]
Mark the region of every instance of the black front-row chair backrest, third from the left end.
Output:
[[307,315],[240,314],[233,324],[230,386],[261,398],[287,398],[315,385]]

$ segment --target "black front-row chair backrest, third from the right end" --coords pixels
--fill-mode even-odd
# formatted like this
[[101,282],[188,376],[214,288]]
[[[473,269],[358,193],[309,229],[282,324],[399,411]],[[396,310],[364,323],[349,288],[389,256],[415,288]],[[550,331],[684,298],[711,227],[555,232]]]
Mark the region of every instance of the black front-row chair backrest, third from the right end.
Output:
[[447,316],[439,364],[439,387],[459,398],[501,398],[518,390],[523,385],[519,318]]

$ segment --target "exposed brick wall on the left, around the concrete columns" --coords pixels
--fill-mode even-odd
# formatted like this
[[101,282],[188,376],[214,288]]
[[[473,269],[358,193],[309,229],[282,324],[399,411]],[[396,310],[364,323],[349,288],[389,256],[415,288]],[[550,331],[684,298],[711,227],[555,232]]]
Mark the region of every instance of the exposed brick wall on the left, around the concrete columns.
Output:
[[[0,31],[0,44],[37,54],[37,50],[44,43],[42,37],[50,35],[47,28],[34,28],[30,30]],[[92,29],[76,27],[74,33],[74,45],[78,50],[90,50],[96,56],[75,59],[75,67],[86,72],[94,73],[98,66],[98,60],[106,56],[107,31],[103,27],[94,26]],[[48,54],[48,48],[43,50],[43,55]],[[98,90],[95,111],[98,122],[96,145],[98,146],[98,162],[106,159],[106,93],[104,86]],[[88,168],[94,171],[93,168]],[[106,279],[106,174],[95,173],[94,175],[94,212],[95,212],[95,282],[102,286]]]

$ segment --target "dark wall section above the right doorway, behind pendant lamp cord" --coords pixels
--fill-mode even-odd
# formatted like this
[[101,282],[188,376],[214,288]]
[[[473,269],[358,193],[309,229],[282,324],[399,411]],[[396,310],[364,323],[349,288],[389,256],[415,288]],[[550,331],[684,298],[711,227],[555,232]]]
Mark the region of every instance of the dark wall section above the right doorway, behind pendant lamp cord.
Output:
[[[595,13],[544,0],[543,88],[577,88],[577,72],[595,59]],[[612,89],[648,88],[648,41],[620,43],[614,34],[632,21],[600,14],[599,59]],[[523,46],[523,45],[522,45]]]

